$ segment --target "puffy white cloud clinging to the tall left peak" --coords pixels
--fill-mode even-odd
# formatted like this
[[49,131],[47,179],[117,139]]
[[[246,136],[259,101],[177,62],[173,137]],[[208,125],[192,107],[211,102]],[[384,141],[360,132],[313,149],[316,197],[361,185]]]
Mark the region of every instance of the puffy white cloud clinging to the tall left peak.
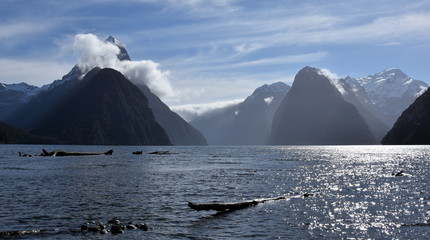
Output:
[[109,42],[101,41],[93,34],[78,34],[73,43],[80,55],[78,66],[85,72],[94,67],[113,68],[120,71],[136,85],[147,85],[159,97],[174,95],[169,81],[169,71],[162,71],[159,64],[151,60],[120,61],[120,49]]

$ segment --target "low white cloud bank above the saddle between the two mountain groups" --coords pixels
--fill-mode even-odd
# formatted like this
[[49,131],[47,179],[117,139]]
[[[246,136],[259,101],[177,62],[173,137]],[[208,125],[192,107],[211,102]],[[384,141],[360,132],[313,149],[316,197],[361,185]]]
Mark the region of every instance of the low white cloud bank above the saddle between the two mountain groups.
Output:
[[221,110],[230,106],[237,105],[243,102],[244,99],[236,99],[231,101],[217,101],[213,103],[203,104],[185,104],[171,107],[172,111],[175,111],[186,121],[191,121],[194,118],[203,115],[210,111]]

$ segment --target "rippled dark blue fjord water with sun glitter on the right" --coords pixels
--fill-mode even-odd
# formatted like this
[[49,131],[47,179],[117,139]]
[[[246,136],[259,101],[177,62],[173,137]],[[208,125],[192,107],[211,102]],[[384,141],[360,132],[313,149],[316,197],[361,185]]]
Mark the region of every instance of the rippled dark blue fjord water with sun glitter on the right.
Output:
[[[42,148],[114,154],[18,157]],[[144,154],[131,154],[138,150]],[[174,154],[145,154],[157,150]],[[425,239],[429,157],[427,146],[0,145],[0,232],[43,230],[13,239]],[[392,175],[399,171],[405,175]],[[283,195],[229,213],[187,207]],[[79,231],[113,217],[150,229]]]

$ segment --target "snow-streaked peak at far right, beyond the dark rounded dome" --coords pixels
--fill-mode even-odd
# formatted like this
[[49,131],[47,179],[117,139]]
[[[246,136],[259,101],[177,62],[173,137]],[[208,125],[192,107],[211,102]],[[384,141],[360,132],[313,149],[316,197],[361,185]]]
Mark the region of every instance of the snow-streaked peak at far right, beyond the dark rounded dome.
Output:
[[350,78],[348,82],[369,111],[389,128],[403,110],[428,88],[425,82],[412,79],[396,68],[367,77]]

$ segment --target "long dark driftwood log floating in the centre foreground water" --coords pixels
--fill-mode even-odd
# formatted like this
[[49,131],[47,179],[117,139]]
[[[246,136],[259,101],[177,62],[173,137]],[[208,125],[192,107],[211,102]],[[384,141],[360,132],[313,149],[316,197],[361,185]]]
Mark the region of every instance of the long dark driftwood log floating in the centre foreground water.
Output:
[[239,209],[244,209],[248,207],[255,206],[260,203],[265,203],[269,201],[277,201],[277,200],[285,200],[293,197],[309,197],[312,196],[312,193],[305,193],[303,195],[297,196],[280,196],[275,198],[262,198],[262,199],[254,199],[243,202],[233,202],[233,203],[192,203],[188,202],[188,207],[197,210],[197,211],[210,211],[215,210],[218,212],[231,212]]

